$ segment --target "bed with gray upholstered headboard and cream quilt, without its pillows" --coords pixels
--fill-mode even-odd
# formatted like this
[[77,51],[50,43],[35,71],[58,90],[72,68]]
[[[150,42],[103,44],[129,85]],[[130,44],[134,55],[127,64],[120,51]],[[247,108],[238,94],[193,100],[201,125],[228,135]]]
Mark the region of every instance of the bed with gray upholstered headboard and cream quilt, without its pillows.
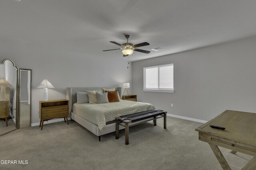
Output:
[[[66,99],[69,100],[69,117],[97,135],[99,140],[101,135],[116,131],[115,117],[155,109],[152,104],[128,100],[105,104],[77,104],[76,92],[101,90],[102,88],[109,89],[109,87],[66,88]],[[115,90],[118,90],[119,96],[122,96],[120,87],[116,87]],[[120,129],[124,129],[124,127],[120,127]]]

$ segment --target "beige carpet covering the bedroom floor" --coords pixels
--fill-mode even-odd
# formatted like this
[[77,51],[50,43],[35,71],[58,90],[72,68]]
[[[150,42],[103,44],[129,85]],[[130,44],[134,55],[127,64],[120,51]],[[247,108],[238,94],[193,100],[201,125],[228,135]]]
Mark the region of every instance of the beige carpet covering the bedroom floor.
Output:
[[[18,129],[0,137],[1,160],[27,160],[28,164],[5,165],[5,170],[221,170],[207,143],[198,141],[194,129],[202,123],[167,118],[167,129],[143,123],[130,128],[130,145],[115,133],[103,135],[101,142],[75,121]],[[232,170],[238,170],[252,156],[220,148]]]

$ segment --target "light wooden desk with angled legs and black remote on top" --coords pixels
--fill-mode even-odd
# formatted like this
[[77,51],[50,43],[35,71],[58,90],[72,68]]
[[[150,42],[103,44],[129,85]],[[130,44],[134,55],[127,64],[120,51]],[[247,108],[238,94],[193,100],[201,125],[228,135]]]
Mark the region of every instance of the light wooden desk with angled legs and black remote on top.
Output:
[[[214,129],[210,125],[225,127]],[[218,146],[254,156],[242,170],[256,169],[256,113],[226,110],[214,119],[196,128],[199,140],[209,143],[224,170],[231,170]],[[218,145],[218,146],[217,146]]]

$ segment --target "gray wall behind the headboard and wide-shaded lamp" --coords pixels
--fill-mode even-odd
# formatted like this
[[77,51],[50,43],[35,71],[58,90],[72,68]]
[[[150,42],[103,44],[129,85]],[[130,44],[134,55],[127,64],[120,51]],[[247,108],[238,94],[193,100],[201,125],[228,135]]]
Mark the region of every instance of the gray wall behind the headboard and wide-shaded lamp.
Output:
[[[96,47],[95,50],[102,50]],[[43,89],[36,88],[47,78],[54,88],[48,89],[48,100],[66,99],[66,87],[120,86],[130,82],[132,64],[122,55],[107,58],[68,49],[44,49],[33,43],[0,41],[0,61],[11,59],[19,68],[32,69],[32,123],[39,122],[39,101]],[[129,90],[132,91],[130,88]]]

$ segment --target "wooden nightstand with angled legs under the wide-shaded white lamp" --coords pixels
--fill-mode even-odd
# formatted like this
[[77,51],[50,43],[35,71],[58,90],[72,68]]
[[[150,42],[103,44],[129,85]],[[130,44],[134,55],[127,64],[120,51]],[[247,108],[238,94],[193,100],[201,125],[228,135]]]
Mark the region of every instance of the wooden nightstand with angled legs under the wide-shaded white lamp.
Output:
[[[49,101],[40,101],[40,125],[41,130],[43,129],[44,121],[55,119],[55,118],[64,118],[64,121],[67,121],[68,124],[68,100],[49,100]],[[41,126],[42,124],[42,126]]]

